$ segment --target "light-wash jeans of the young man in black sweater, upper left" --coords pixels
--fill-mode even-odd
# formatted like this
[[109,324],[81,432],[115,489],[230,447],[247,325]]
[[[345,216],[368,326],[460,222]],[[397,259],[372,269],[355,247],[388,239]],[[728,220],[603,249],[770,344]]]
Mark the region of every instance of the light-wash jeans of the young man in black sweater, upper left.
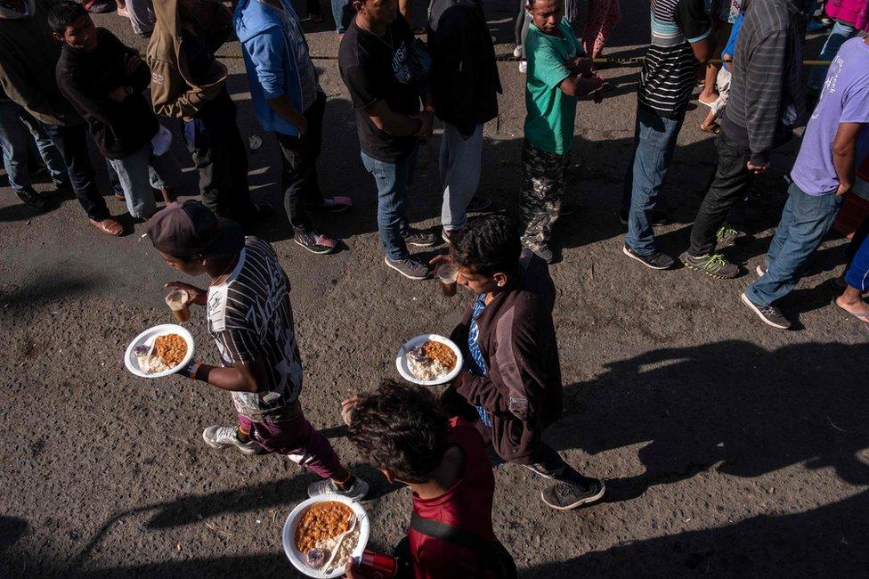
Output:
[[151,188],[171,189],[180,180],[181,169],[172,152],[157,157],[151,154],[150,143],[123,159],[109,159],[109,163],[118,172],[126,208],[136,218],[147,219],[157,211]]

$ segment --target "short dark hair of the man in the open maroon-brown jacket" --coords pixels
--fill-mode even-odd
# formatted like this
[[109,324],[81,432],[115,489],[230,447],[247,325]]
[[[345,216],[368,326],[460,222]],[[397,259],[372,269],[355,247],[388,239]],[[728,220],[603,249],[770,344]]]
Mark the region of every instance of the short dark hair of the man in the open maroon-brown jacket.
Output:
[[451,232],[450,243],[456,263],[481,275],[512,273],[522,254],[518,224],[503,215],[469,220],[464,229]]

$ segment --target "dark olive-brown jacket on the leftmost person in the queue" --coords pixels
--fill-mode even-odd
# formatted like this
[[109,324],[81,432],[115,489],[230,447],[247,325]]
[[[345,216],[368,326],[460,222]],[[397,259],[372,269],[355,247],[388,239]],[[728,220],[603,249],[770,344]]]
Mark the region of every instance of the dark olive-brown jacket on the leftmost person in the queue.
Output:
[[46,14],[49,0],[26,0],[28,16],[0,6],[0,85],[9,98],[46,125],[80,125],[82,118],[61,96],[54,67],[61,47]]

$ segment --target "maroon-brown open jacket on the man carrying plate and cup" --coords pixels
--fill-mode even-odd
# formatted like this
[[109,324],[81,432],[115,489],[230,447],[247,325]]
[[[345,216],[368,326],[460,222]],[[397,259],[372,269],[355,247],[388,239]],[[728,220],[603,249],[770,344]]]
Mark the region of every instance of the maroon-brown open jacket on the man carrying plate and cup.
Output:
[[[466,373],[457,391],[491,413],[492,447],[506,461],[534,462],[543,429],[562,412],[561,365],[552,308],[555,284],[540,257],[527,249],[522,268],[477,319],[488,376]],[[452,339],[467,349],[470,306]]]

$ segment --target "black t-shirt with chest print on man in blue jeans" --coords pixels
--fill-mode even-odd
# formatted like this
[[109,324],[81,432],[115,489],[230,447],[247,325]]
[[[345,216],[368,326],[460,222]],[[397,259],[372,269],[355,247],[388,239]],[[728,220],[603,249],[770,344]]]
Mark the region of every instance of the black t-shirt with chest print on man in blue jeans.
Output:
[[374,159],[393,162],[410,152],[416,137],[394,136],[371,121],[368,107],[384,100],[391,110],[412,115],[420,110],[418,87],[410,81],[410,46],[413,31],[401,15],[377,37],[350,25],[338,51],[338,68],[350,91],[359,144]]

